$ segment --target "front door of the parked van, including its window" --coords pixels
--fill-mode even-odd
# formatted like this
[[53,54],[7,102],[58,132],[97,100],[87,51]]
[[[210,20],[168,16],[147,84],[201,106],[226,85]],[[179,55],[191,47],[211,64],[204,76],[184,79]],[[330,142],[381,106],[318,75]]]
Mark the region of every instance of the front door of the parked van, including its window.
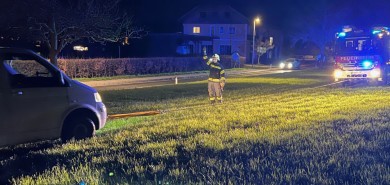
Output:
[[9,88],[3,93],[8,144],[59,137],[69,105],[59,71],[38,56],[20,53],[8,53],[2,65],[8,73]]

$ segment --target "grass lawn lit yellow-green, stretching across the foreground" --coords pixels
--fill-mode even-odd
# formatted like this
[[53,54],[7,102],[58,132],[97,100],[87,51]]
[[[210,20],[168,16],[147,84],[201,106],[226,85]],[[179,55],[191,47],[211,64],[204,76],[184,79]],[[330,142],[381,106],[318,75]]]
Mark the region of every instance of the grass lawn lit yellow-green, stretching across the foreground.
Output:
[[97,136],[0,149],[14,184],[390,184],[390,87],[320,87],[324,71],[104,91]]

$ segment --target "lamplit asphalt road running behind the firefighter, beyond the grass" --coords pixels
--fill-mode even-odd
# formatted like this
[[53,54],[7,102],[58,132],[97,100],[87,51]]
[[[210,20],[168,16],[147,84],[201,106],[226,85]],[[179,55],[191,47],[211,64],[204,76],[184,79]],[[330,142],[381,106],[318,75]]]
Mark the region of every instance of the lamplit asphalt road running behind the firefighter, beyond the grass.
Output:
[[[260,76],[266,74],[287,73],[291,71],[292,70],[280,70],[278,68],[243,69],[243,70],[228,71],[226,75],[227,78],[246,77],[246,76]],[[145,88],[145,87],[175,85],[176,78],[178,83],[194,82],[199,80],[206,80],[208,78],[208,73],[205,72],[205,73],[197,73],[197,74],[88,81],[83,83],[87,84],[88,86],[94,87],[98,91],[106,91],[106,90],[136,89],[136,88]]]

